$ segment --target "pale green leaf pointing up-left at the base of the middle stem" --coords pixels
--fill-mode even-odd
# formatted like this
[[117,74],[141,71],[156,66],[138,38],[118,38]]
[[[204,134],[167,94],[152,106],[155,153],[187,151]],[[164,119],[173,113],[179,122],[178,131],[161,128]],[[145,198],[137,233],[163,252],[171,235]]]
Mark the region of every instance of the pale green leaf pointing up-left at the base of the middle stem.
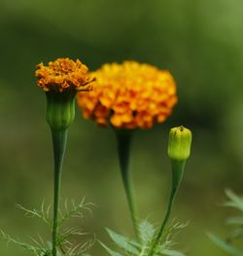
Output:
[[132,246],[132,240],[130,240],[129,238],[125,238],[120,234],[117,234],[109,229],[106,229],[106,231],[121,249],[123,249],[126,252],[130,252],[134,255],[139,254],[139,251],[137,250],[137,248]]

